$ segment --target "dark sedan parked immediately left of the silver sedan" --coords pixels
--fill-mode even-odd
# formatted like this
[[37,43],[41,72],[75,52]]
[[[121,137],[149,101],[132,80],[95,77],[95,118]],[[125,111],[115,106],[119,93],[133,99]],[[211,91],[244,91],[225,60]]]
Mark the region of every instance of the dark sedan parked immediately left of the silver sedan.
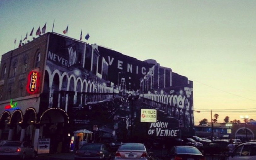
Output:
[[103,143],[86,143],[75,153],[75,160],[110,160],[111,152]]

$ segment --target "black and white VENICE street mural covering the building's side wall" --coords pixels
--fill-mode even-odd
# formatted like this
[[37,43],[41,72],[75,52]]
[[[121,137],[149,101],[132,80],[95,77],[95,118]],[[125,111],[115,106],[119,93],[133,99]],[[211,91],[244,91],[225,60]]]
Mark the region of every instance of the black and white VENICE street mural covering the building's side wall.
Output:
[[[40,109],[58,107],[71,130],[95,140],[178,137],[193,130],[193,83],[155,60],[140,61],[112,49],[50,34]],[[157,123],[141,123],[140,109],[156,109]]]

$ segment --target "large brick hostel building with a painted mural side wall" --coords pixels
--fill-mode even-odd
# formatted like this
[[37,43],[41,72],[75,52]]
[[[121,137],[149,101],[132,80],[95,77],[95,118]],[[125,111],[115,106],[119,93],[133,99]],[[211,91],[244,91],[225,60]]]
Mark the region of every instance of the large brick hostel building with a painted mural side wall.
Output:
[[[0,74],[0,139],[28,140],[36,150],[50,138],[52,150],[64,151],[79,129],[125,140],[130,117],[136,136],[178,136],[178,120],[183,133],[193,130],[193,82],[155,60],[48,32],[3,54]],[[141,95],[134,110],[120,104],[127,94]],[[142,107],[158,117],[140,134]]]

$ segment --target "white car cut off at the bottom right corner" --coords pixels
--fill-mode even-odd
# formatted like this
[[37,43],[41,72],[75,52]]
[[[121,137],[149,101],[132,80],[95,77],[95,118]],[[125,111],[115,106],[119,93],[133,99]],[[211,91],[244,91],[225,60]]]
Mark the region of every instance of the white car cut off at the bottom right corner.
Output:
[[243,143],[236,147],[229,160],[255,160],[256,142]]

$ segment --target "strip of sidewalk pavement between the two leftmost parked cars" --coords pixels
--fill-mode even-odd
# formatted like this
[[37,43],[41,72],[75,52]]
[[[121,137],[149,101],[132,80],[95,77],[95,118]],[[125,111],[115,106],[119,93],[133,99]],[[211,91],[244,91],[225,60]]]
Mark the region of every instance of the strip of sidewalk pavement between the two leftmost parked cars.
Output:
[[55,154],[47,154],[47,155],[38,155],[37,159],[56,159],[56,160],[74,160],[75,153],[55,153]]

